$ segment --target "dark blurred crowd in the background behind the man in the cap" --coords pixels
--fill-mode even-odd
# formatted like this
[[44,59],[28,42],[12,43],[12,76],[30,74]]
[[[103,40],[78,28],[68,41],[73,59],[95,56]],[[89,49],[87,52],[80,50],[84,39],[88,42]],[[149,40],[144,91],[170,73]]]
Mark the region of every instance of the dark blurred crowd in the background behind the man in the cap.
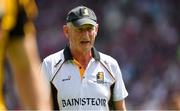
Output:
[[[127,109],[180,110],[179,0],[37,0],[37,5],[41,59],[64,48],[66,15],[85,5],[98,18],[95,47],[120,65],[129,92]],[[18,109],[13,81],[6,78],[8,107]]]

